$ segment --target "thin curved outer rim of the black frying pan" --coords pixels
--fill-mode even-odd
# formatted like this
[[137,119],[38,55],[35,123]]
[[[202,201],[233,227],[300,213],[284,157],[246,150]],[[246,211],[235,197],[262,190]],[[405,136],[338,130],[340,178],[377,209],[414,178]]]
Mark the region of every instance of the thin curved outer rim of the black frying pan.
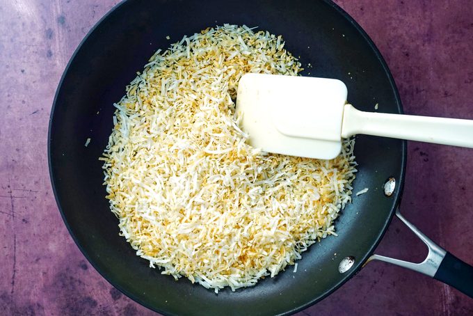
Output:
[[[58,197],[58,188],[56,187],[56,176],[54,175],[54,168],[53,168],[53,164],[52,164],[52,157],[51,157],[51,143],[52,143],[51,129],[52,129],[52,123],[53,123],[54,113],[55,113],[55,110],[56,110],[56,103],[57,103],[57,100],[58,100],[58,95],[59,95],[59,93],[61,91],[61,88],[63,86],[63,81],[65,80],[65,77],[67,76],[67,73],[69,72],[69,68],[72,65],[72,63],[74,62],[74,59],[77,56],[77,54],[81,51],[83,45],[88,41],[88,38],[90,38],[90,35],[92,35],[96,31],[96,29],[102,24],[102,22],[104,22],[104,20],[108,19],[108,17],[110,15],[112,15],[115,12],[115,10],[118,10],[119,8],[121,8],[122,6],[124,6],[125,4],[127,4],[129,2],[130,2],[129,0],[120,1],[120,3],[117,3],[115,6],[113,6],[113,8],[111,8],[102,18],[100,18],[95,23],[95,25],[90,29],[90,31],[88,31],[88,33],[81,40],[81,42],[79,43],[77,48],[74,50],[74,53],[70,57],[70,60],[67,62],[67,65],[66,65],[66,67],[63,71],[63,74],[61,75],[61,79],[58,82],[58,87],[56,88],[56,92],[54,94],[54,100],[53,100],[53,103],[52,103],[52,106],[51,106],[51,112],[49,114],[49,125],[48,125],[48,134],[47,134],[47,159],[48,159],[48,168],[49,168],[49,179],[51,181],[51,189],[54,193],[54,199],[56,200],[56,205],[58,207],[59,212],[61,213],[61,218],[63,219],[63,222],[65,223],[65,226],[66,226],[70,236],[74,240],[74,243],[77,245],[77,247],[79,248],[79,250],[81,251],[83,256],[94,267],[94,269],[100,274],[100,276],[102,276],[102,278],[104,278],[113,287],[120,290],[120,292],[125,294],[127,297],[129,297],[130,299],[136,301],[136,303],[141,304],[141,306],[145,306],[146,308],[148,308],[150,310],[153,310],[154,312],[161,313],[163,315],[177,315],[177,314],[174,314],[174,313],[169,313],[166,310],[162,310],[161,308],[157,308],[156,306],[152,306],[149,303],[145,303],[145,301],[138,298],[134,293],[129,292],[124,287],[118,285],[115,281],[112,281],[113,277],[109,276],[104,271],[102,271],[102,269],[97,266],[95,261],[92,260],[91,256],[84,250],[81,243],[79,243],[79,240],[77,239],[77,236],[74,234],[74,232],[72,232],[72,228],[71,228],[70,224],[67,222],[65,213],[63,212],[63,207],[61,206],[60,198]],[[374,42],[371,40],[371,38],[369,38],[369,35],[364,31],[364,29],[362,29],[360,24],[358,24],[358,22],[356,22],[355,19],[353,19],[353,17],[348,15],[348,13],[346,13],[346,11],[344,11],[340,6],[338,6],[337,3],[334,3],[332,0],[322,0],[322,2],[328,4],[328,6],[331,6],[333,9],[335,9],[337,11],[337,13],[342,15],[342,17],[344,17],[344,19],[346,19],[348,22],[350,22],[353,25],[354,29],[356,31],[358,31],[358,33],[360,33],[360,35],[362,35],[362,38],[365,40],[365,42],[367,43],[369,48],[372,49],[372,51],[374,52],[376,58],[378,59],[378,62],[383,67],[383,70],[384,70],[385,74],[387,75],[387,79],[390,82],[390,88],[391,88],[392,92],[394,93],[394,99],[396,100],[396,103],[397,103],[396,104],[397,110],[399,111],[399,113],[402,114],[403,113],[403,106],[402,106],[402,103],[401,103],[401,97],[399,95],[399,91],[397,90],[397,87],[396,87],[396,84],[395,84],[395,81],[394,81],[394,77],[392,77],[392,74],[391,74],[389,68],[387,67],[387,63],[385,62],[383,56],[379,52],[379,50],[376,47],[376,45],[374,44]],[[325,292],[320,294],[318,297],[312,299],[312,301],[308,301],[307,303],[305,303],[301,306],[297,306],[296,308],[293,308],[291,310],[287,310],[286,312],[280,313],[278,315],[291,315],[291,314],[299,312],[300,310],[304,310],[305,308],[308,308],[308,307],[314,305],[315,303],[317,303],[319,301],[322,301],[323,299],[328,297],[330,294],[335,292],[335,290],[339,289],[339,287],[344,285],[344,283],[348,282],[351,278],[353,278],[353,276],[355,276],[355,274],[358,274],[358,271],[360,271],[362,269],[362,267],[364,267],[364,264],[367,261],[367,259],[369,258],[369,256],[371,256],[374,253],[374,250],[376,249],[376,247],[380,243],[381,239],[383,239],[383,236],[385,235],[385,232],[386,232],[387,228],[389,227],[389,225],[392,221],[392,218],[394,216],[396,208],[399,206],[399,203],[401,202],[401,196],[402,196],[402,193],[403,193],[404,180],[405,180],[405,175],[406,175],[406,161],[407,161],[407,141],[403,140],[403,141],[401,141],[401,168],[400,168],[401,172],[400,172],[400,175],[399,175],[399,179],[396,179],[397,182],[398,182],[396,191],[395,191],[394,195],[391,196],[391,198],[394,199],[394,203],[392,204],[392,208],[390,210],[389,216],[387,216],[387,219],[385,220],[385,223],[383,224],[382,230],[380,230],[380,233],[376,237],[376,240],[374,240],[374,243],[369,248],[369,251],[367,251],[366,255],[364,255],[364,257],[362,257],[360,260],[357,260],[357,262],[355,262],[354,267],[352,269],[350,269],[350,271],[348,271],[346,276],[344,276],[344,278],[342,278],[342,280],[339,281],[339,283],[337,283],[335,286],[330,287],[328,290],[326,290]]]

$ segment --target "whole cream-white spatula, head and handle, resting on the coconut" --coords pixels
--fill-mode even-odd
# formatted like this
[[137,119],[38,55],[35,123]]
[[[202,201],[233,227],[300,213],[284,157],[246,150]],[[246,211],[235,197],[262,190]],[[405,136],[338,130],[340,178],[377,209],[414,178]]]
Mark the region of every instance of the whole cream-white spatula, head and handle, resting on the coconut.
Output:
[[266,152],[332,159],[355,134],[473,148],[473,120],[358,111],[342,81],[244,74],[236,114],[249,143]]

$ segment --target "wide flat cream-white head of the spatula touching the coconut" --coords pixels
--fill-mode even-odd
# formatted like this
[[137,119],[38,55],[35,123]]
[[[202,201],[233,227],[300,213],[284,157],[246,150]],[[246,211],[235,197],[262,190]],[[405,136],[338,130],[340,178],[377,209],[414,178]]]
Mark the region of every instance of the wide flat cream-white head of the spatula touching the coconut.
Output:
[[245,74],[239,81],[236,113],[253,147],[332,159],[342,150],[347,94],[337,79]]

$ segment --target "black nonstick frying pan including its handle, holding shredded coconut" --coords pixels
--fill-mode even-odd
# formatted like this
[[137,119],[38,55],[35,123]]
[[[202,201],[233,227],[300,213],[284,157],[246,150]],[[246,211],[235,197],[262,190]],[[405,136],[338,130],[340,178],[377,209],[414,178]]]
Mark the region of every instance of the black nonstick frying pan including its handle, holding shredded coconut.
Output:
[[[338,237],[327,237],[303,253],[297,273],[289,268],[254,287],[215,294],[184,279],[161,275],[135,255],[118,236],[118,220],[104,198],[102,163],[97,159],[113,127],[112,104],[125,94],[125,86],[148,58],[169,46],[166,36],[177,41],[224,23],[259,26],[283,35],[289,52],[300,56],[304,65],[314,65],[304,75],[341,79],[348,86],[348,100],[363,111],[372,111],[380,103],[387,113],[402,113],[380,53],[335,3],[124,1],[102,18],[74,53],[58,86],[49,125],[49,170],[56,200],[65,225],[93,267],[131,299],[168,315],[295,313],[326,297],[374,259],[417,269],[472,296],[473,268],[412,226],[430,247],[423,264],[372,255],[401,198],[406,142],[371,136],[356,139],[359,172],[353,189],[369,187],[369,193],[353,197],[335,223]],[[389,178],[395,179],[396,186],[386,196],[383,187]]]

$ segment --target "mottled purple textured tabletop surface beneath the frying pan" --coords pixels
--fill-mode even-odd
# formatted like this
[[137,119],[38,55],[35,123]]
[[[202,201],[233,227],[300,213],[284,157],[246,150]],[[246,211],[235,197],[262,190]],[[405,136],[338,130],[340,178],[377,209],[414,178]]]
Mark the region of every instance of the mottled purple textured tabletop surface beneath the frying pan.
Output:
[[[80,253],[52,196],[47,125],[61,74],[118,1],[0,1],[0,314],[154,315]],[[473,119],[473,6],[458,1],[338,0],[389,65],[406,113]],[[255,23],[257,24],[257,23]],[[379,104],[383,111],[383,104]],[[473,150],[411,142],[401,212],[473,263]],[[394,219],[376,253],[421,260]],[[299,315],[473,315],[473,300],[426,276],[370,263]]]

